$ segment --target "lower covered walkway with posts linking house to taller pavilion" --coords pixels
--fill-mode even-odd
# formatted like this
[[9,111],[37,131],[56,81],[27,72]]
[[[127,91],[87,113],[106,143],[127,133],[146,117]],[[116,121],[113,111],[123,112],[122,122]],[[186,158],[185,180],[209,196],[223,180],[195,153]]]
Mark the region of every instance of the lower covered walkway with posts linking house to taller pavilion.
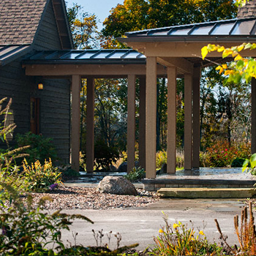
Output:
[[[135,82],[140,82],[140,166],[146,167],[146,57],[136,50],[48,50],[38,51],[23,61],[26,75],[71,80],[71,158],[72,169],[79,170],[80,89],[87,79],[86,170],[94,170],[94,80],[97,78],[128,79],[127,170],[135,166]],[[166,77],[166,69],[157,65],[157,76]]]

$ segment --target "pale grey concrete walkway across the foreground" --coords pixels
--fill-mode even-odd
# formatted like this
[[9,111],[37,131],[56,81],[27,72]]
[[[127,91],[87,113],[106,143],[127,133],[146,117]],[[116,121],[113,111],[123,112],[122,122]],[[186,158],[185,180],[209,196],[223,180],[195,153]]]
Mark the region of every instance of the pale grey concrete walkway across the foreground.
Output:
[[[77,244],[96,246],[92,229],[102,230],[103,233],[113,231],[121,233],[122,245],[139,243],[138,249],[146,249],[153,246],[153,237],[158,235],[161,225],[165,225],[162,211],[168,215],[169,222],[182,222],[195,230],[204,230],[208,240],[219,241],[219,233],[214,219],[218,219],[222,232],[228,236],[230,245],[237,244],[233,228],[233,217],[240,217],[244,203],[240,200],[203,200],[203,199],[162,199],[146,208],[126,208],[113,210],[80,210],[65,211],[69,214],[83,214],[94,221],[94,225],[88,222],[76,220],[72,225],[72,231],[78,232]],[[192,223],[190,222],[192,221]],[[74,243],[72,236],[64,231],[63,241]],[[106,235],[102,238],[102,244],[108,243]],[[110,239],[110,248],[116,246],[116,238]]]

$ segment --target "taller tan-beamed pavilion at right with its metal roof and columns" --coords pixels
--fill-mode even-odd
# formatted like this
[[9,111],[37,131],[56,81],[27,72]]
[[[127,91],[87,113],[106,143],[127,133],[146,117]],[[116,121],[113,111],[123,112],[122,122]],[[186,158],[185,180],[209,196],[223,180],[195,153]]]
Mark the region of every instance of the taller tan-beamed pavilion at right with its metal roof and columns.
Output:
[[[213,52],[201,59],[201,48],[211,44],[226,48],[242,42],[256,42],[256,18],[219,20],[207,23],[170,26],[126,33],[120,39],[146,56],[146,177],[156,176],[157,63],[167,67],[167,173],[176,171],[176,77],[184,74],[184,169],[199,168],[200,150],[200,74],[201,68],[222,63],[222,53]],[[256,56],[245,50],[243,56]],[[252,80],[252,152],[256,152],[255,80]]]

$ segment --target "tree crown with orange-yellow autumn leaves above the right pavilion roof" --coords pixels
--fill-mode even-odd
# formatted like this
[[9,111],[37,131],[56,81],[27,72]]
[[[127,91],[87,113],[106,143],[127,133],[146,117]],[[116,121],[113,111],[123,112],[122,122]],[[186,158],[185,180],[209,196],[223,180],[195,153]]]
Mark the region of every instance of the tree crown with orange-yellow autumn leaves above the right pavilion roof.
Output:
[[125,0],[110,11],[102,33],[116,38],[127,31],[234,18],[236,12],[230,0]]

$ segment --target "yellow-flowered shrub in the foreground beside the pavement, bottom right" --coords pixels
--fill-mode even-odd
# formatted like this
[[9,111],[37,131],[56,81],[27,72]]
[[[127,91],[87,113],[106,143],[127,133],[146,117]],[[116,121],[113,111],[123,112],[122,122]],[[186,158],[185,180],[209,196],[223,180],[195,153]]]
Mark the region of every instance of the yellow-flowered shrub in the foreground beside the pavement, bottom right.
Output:
[[172,227],[166,215],[164,220],[165,227],[154,238],[155,255],[223,255],[222,248],[209,243],[202,230],[196,235],[193,229],[188,229],[181,222],[174,223]]

